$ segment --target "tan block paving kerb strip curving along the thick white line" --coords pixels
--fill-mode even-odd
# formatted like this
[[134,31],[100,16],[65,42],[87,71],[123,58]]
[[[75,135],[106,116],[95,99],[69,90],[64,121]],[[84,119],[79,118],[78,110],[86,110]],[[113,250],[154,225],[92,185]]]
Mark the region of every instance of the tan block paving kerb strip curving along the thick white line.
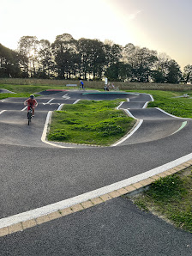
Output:
[[165,177],[171,174],[176,174],[177,172],[185,168],[189,168],[191,165],[192,165],[192,160],[189,160],[188,162],[184,162],[183,164],[178,165],[175,168],[171,168],[163,173],[153,175],[152,177],[147,178],[146,180],[141,180],[140,182],[136,182],[135,184],[125,186],[116,191],[109,192],[107,194],[99,196],[98,198],[92,198],[90,200],[87,200],[86,202],[82,202],[81,204],[75,204],[71,207],[57,210],[55,212],[51,212],[50,214],[45,216],[39,216],[38,218],[31,219],[26,222],[18,222],[9,227],[4,227],[0,229],[0,236],[5,236],[5,235],[13,234],[15,232],[23,231],[25,229],[32,228],[44,222],[50,222],[51,220],[57,219],[59,217],[67,216],[74,212],[93,207],[94,205],[97,205],[97,204],[102,204],[112,198],[117,198],[129,193],[141,192],[145,190],[147,186],[150,186],[150,184],[152,184],[154,180],[158,180],[161,177]]

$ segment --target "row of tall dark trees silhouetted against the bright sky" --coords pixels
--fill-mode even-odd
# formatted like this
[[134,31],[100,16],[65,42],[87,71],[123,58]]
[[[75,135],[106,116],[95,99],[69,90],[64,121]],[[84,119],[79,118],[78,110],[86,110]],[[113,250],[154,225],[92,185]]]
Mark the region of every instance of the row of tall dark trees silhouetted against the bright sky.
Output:
[[101,80],[121,82],[192,82],[192,65],[183,72],[165,53],[111,40],[75,40],[70,34],[49,40],[23,36],[16,51],[0,44],[0,77]]

